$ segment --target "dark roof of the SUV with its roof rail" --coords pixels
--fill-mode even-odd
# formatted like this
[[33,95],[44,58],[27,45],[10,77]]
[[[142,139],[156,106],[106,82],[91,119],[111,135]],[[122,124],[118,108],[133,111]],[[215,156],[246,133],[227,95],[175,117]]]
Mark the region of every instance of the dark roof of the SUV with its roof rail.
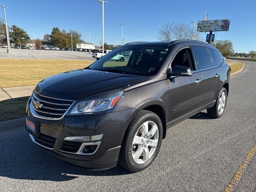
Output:
[[198,46],[206,46],[208,48],[216,49],[214,46],[196,40],[174,40],[174,41],[158,41],[158,42],[130,42],[125,44],[124,46],[190,46],[190,45],[198,45]]

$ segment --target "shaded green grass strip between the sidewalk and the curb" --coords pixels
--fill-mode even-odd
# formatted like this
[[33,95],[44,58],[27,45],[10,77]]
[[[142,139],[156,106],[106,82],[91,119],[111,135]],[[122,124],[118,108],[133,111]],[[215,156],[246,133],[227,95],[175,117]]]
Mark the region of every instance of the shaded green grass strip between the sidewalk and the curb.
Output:
[[0,101],[0,122],[26,116],[27,97]]

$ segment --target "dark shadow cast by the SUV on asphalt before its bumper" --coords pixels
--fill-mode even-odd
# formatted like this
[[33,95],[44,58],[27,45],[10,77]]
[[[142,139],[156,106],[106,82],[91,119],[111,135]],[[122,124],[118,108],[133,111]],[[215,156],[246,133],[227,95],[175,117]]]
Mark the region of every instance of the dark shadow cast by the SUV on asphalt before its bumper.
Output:
[[90,171],[68,165],[34,146],[28,134],[12,139],[0,138],[0,153],[0,176],[7,178],[66,181],[79,176],[131,174],[120,166],[108,170]]

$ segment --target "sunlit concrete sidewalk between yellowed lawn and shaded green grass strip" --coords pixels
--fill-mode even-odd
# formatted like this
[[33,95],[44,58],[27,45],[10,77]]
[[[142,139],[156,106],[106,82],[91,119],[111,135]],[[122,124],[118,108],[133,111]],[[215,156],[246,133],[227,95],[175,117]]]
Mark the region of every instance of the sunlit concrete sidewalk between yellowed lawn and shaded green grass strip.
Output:
[[0,101],[18,97],[30,96],[34,90],[34,85],[22,87],[0,88]]

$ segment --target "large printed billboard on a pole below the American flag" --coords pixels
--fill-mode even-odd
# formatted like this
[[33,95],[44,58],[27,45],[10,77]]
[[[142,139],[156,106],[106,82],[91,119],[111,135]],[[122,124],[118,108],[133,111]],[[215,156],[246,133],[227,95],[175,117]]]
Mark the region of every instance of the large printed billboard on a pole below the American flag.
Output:
[[229,19],[220,19],[220,20],[209,20],[209,21],[198,21],[197,22],[197,31],[228,31],[230,24]]

